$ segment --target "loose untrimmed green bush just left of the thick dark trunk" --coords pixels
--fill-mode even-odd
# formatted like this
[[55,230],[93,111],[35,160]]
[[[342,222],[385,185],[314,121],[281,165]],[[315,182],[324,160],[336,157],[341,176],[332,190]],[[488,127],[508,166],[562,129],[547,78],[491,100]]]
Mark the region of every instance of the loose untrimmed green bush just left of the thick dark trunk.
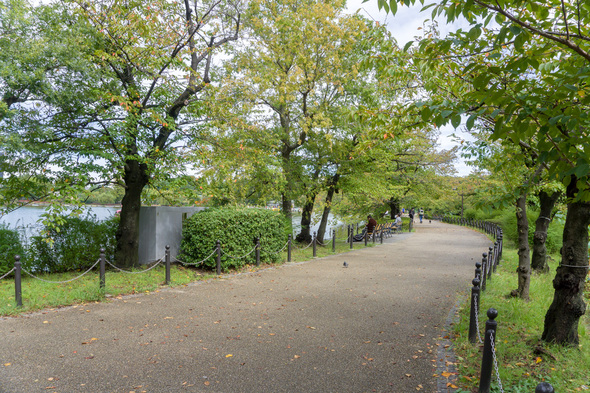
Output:
[[[29,258],[23,266],[33,272],[60,273],[88,269],[98,260],[100,249],[114,259],[118,217],[99,221],[96,216],[70,217],[59,229],[44,229],[33,236]],[[48,241],[51,239],[52,241]]]

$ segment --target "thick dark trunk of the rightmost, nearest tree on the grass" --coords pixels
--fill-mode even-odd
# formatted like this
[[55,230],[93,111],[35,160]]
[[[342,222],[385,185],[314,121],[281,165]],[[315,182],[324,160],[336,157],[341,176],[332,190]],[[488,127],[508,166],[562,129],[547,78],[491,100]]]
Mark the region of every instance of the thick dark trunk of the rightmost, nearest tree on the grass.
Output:
[[[578,192],[577,179],[572,176],[567,188],[571,200]],[[586,312],[584,281],[588,274],[588,225],[590,203],[570,202],[563,229],[561,264],[553,279],[553,303],[545,314],[545,327],[541,339],[561,345],[579,343],[578,323]]]

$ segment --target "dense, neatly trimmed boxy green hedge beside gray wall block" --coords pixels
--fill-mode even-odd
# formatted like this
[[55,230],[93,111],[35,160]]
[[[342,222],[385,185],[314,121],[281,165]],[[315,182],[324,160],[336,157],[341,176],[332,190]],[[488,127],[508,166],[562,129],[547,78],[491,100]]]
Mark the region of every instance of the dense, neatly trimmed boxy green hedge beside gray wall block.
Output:
[[[278,212],[266,209],[218,208],[200,211],[184,221],[179,258],[186,263],[198,263],[215,250],[221,241],[221,267],[224,271],[256,262],[252,252],[254,238],[260,237],[261,263],[276,263],[277,253],[286,243],[285,220]],[[203,262],[214,269],[216,256]]]

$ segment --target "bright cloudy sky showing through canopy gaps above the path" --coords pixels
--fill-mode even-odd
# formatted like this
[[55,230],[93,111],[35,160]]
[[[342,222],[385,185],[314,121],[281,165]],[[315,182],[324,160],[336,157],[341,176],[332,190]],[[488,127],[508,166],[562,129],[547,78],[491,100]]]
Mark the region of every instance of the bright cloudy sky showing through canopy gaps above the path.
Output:
[[[424,12],[420,12],[420,9],[422,9],[422,5],[420,4],[412,7],[400,5],[396,15],[388,15],[384,11],[379,11],[377,0],[369,0],[366,3],[363,3],[362,0],[348,0],[347,4],[350,13],[359,10],[359,13],[362,15],[378,21],[379,23],[386,24],[388,30],[392,32],[401,47],[403,47],[408,41],[413,41],[414,37],[420,35],[420,30],[418,29],[424,25],[426,19],[430,19],[432,11],[432,9],[428,9]],[[426,1],[425,4],[429,4],[429,2]],[[465,27],[462,23],[447,25],[444,20],[439,20],[438,23],[441,35],[445,35],[449,31],[455,31],[462,25]],[[461,138],[470,139],[468,134],[461,132],[461,127],[455,130],[452,126],[448,125],[442,127],[440,131],[440,149],[450,149],[457,145],[457,142],[451,137],[451,134],[453,133],[456,133]],[[471,167],[467,166],[461,159],[455,163],[455,169],[457,169],[457,174],[459,176],[465,176],[471,172]]]

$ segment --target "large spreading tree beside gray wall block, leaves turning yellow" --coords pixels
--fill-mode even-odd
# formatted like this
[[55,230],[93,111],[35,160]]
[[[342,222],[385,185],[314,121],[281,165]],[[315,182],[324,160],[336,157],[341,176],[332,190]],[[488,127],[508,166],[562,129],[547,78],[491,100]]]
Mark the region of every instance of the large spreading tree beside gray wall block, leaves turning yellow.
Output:
[[17,121],[3,124],[26,151],[12,162],[50,172],[56,199],[74,201],[72,190],[88,184],[125,188],[115,254],[121,266],[138,263],[145,187],[186,171],[183,145],[206,115],[199,98],[211,82],[213,54],[238,38],[239,7],[229,0],[65,2],[64,23],[76,27],[65,49],[80,53],[76,68],[59,69],[67,80],[52,86],[61,95],[43,94],[39,109],[22,105]]

